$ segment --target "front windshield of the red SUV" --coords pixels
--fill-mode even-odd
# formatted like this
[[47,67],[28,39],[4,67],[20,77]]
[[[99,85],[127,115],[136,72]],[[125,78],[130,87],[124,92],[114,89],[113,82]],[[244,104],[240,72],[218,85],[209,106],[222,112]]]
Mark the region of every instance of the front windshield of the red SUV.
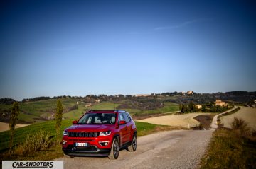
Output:
[[78,124],[114,124],[116,120],[115,113],[87,113]]

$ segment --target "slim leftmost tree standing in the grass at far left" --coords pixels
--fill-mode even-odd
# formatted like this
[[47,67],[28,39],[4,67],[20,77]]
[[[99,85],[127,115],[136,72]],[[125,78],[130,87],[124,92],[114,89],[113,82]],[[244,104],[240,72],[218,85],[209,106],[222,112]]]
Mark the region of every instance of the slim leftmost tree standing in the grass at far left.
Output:
[[16,125],[16,120],[18,120],[18,114],[19,114],[19,107],[18,102],[14,102],[11,107],[11,117],[9,122],[9,128],[10,128],[10,150],[9,153],[11,155],[11,147],[14,140],[14,129]]

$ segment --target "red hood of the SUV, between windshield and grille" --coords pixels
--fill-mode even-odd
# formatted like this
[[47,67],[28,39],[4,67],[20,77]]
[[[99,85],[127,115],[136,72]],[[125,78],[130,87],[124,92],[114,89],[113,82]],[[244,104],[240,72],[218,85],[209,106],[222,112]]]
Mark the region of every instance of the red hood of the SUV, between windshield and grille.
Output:
[[68,129],[67,132],[104,132],[109,131],[112,125],[105,124],[74,124]]

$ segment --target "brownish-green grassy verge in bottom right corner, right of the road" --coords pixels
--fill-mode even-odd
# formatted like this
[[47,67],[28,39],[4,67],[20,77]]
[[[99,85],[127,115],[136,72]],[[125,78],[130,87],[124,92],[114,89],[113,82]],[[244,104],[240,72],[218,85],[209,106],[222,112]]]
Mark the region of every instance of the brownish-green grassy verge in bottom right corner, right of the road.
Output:
[[204,168],[256,168],[256,139],[232,129],[217,129],[201,159]]

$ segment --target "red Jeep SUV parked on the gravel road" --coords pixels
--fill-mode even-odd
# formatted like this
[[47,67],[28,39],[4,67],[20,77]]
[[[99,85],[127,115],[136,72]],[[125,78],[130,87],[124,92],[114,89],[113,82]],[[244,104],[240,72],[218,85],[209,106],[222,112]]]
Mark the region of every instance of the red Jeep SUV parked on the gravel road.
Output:
[[91,110],[63,132],[65,156],[108,156],[117,159],[119,149],[136,151],[137,129],[128,112]]

